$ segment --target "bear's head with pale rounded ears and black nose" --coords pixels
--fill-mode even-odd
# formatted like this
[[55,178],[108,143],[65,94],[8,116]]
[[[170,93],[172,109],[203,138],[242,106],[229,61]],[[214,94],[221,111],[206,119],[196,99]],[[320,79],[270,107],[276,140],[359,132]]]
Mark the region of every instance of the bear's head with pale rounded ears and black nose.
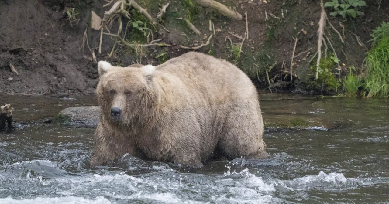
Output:
[[154,98],[152,65],[120,67],[99,61],[96,95],[105,119],[128,124]]

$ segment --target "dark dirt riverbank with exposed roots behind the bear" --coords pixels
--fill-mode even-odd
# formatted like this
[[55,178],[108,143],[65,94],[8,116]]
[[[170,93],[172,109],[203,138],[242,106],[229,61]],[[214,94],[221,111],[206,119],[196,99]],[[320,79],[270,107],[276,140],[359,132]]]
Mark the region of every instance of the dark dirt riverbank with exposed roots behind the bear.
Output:
[[[166,0],[136,1],[156,17]],[[244,70],[252,80],[263,89],[275,91],[307,91],[304,80],[309,78],[309,61],[317,50],[317,23],[320,17],[319,1],[316,0],[221,0],[242,14],[242,20],[232,20],[209,8],[200,7],[194,0],[171,1],[166,9],[163,22],[152,28],[152,33],[144,32],[141,26],[147,22],[136,10],[131,10],[130,21],[123,21],[123,32],[130,33],[128,42],[147,43],[161,38],[172,47],[147,46],[147,51],[139,52],[124,49],[116,45],[112,56],[114,38],[103,35],[102,52],[98,53],[100,31],[90,28],[91,11],[101,18],[111,5],[103,7],[104,1],[91,0],[8,0],[0,2],[0,91],[15,93],[46,94],[93,94],[97,84],[96,63],[89,50],[95,49],[97,60],[106,59],[118,65],[130,65],[135,62],[157,65],[168,58],[189,51],[179,45],[193,47],[207,41],[213,35],[208,46],[198,51],[228,59]],[[338,21],[342,21],[347,30],[356,33],[366,43],[371,30],[382,21],[389,20],[389,3],[366,1],[364,16],[356,19],[328,16],[332,24],[342,33]],[[78,23],[71,24],[64,10],[75,8]],[[247,12],[248,39],[245,36],[245,12]],[[328,12],[328,11],[327,11]],[[186,26],[191,23],[201,32],[195,34]],[[209,20],[214,28],[209,30]],[[128,26],[126,26],[128,25]],[[116,33],[117,19],[113,21],[110,32]],[[127,29],[126,29],[127,28]],[[146,29],[147,30],[147,29]],[[342,66],[341,74],[347,73],[349,65],[360,68],[366,49],[359,46],[356,37],[345,31],[346,43],[342,45],[329,26],[330,35]],[[107,32],[107,31],[105,31]],[[144,35],[142,35],[142,32]],[[300,33],[299,33],[300,32]],[[84,38],[84,33],[87,34]],[[298,34],[299,33],[299,34]],[[152,34],[152,35],[150,35]],[[295,58],[291,68],[291,57],[295,38]],[[84,39],[84,40],[83,40]],[[88,40],[88,41],[86,41]],[[82,44],[84,46],[82,47]],[[237,47],[242,44],[239,55]],[[239,50],[239,49],[238,49]],[[10,64],[18,75],[13,73]],[[291,83],[290,70],[293,77]],[[267,74],[266,74],[267,73]]]

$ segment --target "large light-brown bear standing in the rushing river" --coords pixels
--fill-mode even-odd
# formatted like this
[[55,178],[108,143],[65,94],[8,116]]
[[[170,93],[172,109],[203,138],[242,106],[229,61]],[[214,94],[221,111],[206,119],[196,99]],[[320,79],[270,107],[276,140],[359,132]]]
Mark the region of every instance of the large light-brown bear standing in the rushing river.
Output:
[[187,52],[142,68],[99,61],[98,73],[91,166],[125,153],[190,167],[268,158],[257,90],[230,62]]

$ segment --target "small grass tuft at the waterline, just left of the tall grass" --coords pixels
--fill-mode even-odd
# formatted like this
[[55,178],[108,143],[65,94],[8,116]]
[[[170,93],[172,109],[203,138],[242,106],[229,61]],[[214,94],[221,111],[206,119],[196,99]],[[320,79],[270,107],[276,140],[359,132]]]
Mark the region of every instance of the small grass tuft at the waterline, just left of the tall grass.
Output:
[[364,84],[362,77],[355,74],[356,69],[354,66],[350,66],[350,72],[342,80],[343,92],[346,96],[354,97],[357,96],[357,93],[360,89],[363,88]]

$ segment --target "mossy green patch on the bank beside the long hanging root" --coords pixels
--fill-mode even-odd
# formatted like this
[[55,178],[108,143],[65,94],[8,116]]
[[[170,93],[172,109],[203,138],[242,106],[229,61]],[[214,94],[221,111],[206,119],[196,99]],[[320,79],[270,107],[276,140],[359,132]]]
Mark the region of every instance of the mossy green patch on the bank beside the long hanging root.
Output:
[[[340,60],[335,56],[321,58],[317,80],[314,80],[312,77],[312,80],[307,83],[307,87],[320,92],[337,92],[340,87],[340,80],[335,77],[335,73],[333,73],[332,70],[339,61]],[[316,66],[312,66],[310,72],[312,73],[312,76],[314,76]]]

